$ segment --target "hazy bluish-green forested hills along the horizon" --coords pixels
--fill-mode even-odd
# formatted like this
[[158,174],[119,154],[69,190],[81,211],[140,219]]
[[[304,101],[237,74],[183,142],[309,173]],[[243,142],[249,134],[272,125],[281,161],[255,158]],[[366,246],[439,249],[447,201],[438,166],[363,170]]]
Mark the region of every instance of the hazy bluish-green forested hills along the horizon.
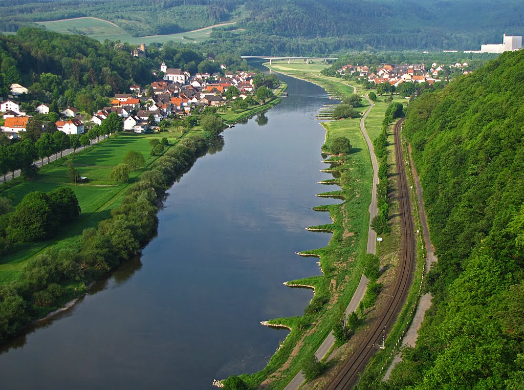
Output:
[[[518,0],[17,0],[0,1],[0,8],[3,31],[35,21],[103,15],[137,37],[235,20],[234,27],[213,32],[210,42],[245,55],[477,50],[482,43],[501,42],[503,33],[524,31]],[[239,33],[239,27],[245,31]]]

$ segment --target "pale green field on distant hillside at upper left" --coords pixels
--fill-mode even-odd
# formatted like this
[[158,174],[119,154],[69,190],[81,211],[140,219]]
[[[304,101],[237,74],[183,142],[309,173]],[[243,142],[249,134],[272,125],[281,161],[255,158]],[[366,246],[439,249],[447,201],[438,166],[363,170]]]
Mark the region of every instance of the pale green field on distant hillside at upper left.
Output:
[[192,31],[180,32],[169,35],[152,35],[146,37],[133,37],[123,28],[111,21],[93,18],[81,17],[74,19],[62,19],[52,21],[39,21],[39,25],[45,26],[48,30],[62,32],[63,34],[82,34],[90,38],[103,42],[105,39],[121,40],[132,45],[151,44],[152,42],[203,42],[209,39],[214,27],[226,26],[235,22],[217,24],[209,27],[199,28]]

